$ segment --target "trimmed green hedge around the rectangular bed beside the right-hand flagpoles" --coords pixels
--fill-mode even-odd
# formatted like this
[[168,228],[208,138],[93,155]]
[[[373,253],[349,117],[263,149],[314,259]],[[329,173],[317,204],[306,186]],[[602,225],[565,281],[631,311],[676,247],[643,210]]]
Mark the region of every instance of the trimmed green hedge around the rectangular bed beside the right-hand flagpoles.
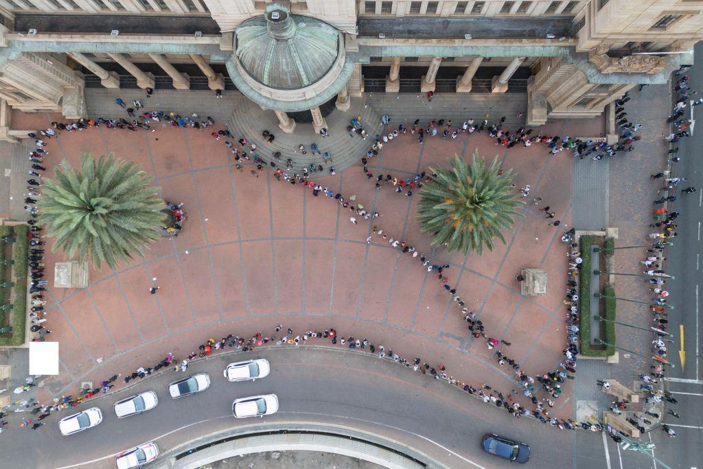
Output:
[[[613,245],[609,243],[609,240],[614,243],[612,238],[607,238],[604,249],[601,251],[607,256],[612,255]],[[591,262],[593,253],[591,247],[596,245],[595,236],[583,235],[580,242],[583,262],[581,262],[581,275],[579,276],[579,345],[581,345],[579,352],[584,356],[611,356],[615,353],[615,349],[611,345],[606,346],[605,349],[591,345],[591,301],[599,301],[591,294],[591,272],[596,268],[592,266]],[[610,252],[606,251],[608,248],[610,248]],[[605,285],[603,294],[614,297],[615,290],[612,285]],[[605,300],[605,319],[615,320],[615,300],[613,299]],[[605,338],[601,337],[601,340],[609,344],[615,343],[615,325],[613,323],[605,323]]]

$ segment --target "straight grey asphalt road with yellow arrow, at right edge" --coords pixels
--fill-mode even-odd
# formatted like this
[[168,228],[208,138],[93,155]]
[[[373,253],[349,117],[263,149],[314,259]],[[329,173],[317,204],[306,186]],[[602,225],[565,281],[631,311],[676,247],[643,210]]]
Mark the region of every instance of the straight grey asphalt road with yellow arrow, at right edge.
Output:
[[[703,44],[695,46],[695,63],[691,68],[689,85],[698,90],[697,98],[703,93]],[[686,117],[690,117],[690,105],[686,108]],[[680,418],[666,416],[664,423],[676,431],[676,438],[667,437],[663,431],[645,435],[642,442],[652,441],[656,445],[654,455],[672,468],[703,467],[703,363],[699,359],[701,330],[699,297],[703,290],[703,249],[701,243],[701,223],[703,221],[703,108],[693,110],[697,120],[693,135],[682,139],[678,146],[681,161],[673,167],[671,176],[683,176],[683,181],[673,195],[678,197],[673,203],[673,210],[681,212],[673,239],[673,246],[666,250],[666,271],[676,277],[666,283],[670,303],[675,309],[669,311],[669,332],[673,333],[673,343],[669,345],[668,359],[674,364],[669,369],[669,381],[666,389],[673,393],[678,404],[667,404],[666,409],[680,414]],[[661,181],[661,179],[660,179]],[[662,184],[663,185],[663,184]],[[697,192],[685,194],[681,189],[695,187]],[[683,329],[682,329],[683,327]],[[683,331],[683,332],[682,332]],[[683,341],[681,340],[683,335]],[[685,352],[682,361],[679,351]],[[662,465],[652,461],[648,455],[619,448],[612,440],[607,442],[607,469],[661,468]]]

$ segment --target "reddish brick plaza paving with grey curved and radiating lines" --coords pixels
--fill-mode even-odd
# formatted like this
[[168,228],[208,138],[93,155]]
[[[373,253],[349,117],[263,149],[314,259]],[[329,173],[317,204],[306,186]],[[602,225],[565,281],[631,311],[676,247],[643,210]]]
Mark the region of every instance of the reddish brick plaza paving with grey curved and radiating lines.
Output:
[[[56,118],[16,114],[13,125],[26,129]],[[583,129],[598,134],[600,127],[598,120],[558,121],[544,129],[565,136]],[[571,225],[572,160],[566,152],[550,156],[539,144],[506,150],[486,134],[472,134],[428,138],[420,145],[408,134],[385,145],[369,167],[375,174],[405,176],[446,164],[455,153],[470,157],[476,148],[514,168],[517,187],[532,186],[529,200],[541,197],[562,226]],[[484,340],[467,340],[456,305],[417,259],[400,255],[377,236],[367,245],[370,224],[350,224],[349,212],[333,200],[313,197],[268,172],[254,177],[250,167],[237,171],[226,146],[209,131],[164,125],[131,133],[101,127],[64,133],[49,141],[49,152],[50,168],[60,158],[75,165],[82,152],[134,160],[155,177],[166,200],[185,203],[188,220],[180,236],[155,243],[146,259],[114,270],[91,268],[86,289],[49,288],[51,338],[60,342],[62,374],[46,381],[48,393],[71,392],[79,381],[131,371],[167,351],[184,356],[211,335],[247,335],[277,323],[298,331],[334,327],[344,335],[386,342],[406,357],[445,363],[468,383],[510,390],[509,368],[491,360]],[[482,257],[464,257],[431,249],[430,237],[415,221],[418,197],[389,188],[374,191],[360,165],[319,181],[347,198],[356,194],[357,202],[382,214],[374,224],[451,264],[450,283],[481,316],[489,335],[512,342],[503,351],[528,373],[545,373],[561,360],[565,250],[561,229],[548,226],[536,205],[527,205],[514,231],[505,233],[507,245],[498,243]],[[62,253],[51,253],[46,263],[63,259]],[[520,296],[514,277],[526,266],[548,271],[545,297]],[[51,269],[48,277],[53,284]],[[148,292],[152,284],[162,287],[157,295]],[[560,405],[557,416],[572,415],[568,399]]]

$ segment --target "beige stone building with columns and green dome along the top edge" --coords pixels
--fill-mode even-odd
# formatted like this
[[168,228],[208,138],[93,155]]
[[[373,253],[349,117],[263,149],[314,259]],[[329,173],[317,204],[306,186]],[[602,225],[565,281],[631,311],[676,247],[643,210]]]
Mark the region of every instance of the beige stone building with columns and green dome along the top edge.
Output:
[[[273,12],[287,30],[272,32]],[[125,77],[236,87],[285,131],[303,110],[323,126],[318,106],[335,95],[348,108],[365,73],[387,92],[411,72],[425,92],[448,73],[456,93],[479,92],[479,77],[505,93],[520,76],[529,124],[591,117],[692,63],[702,12],[703,0],[0,0],[0,139],[13,138],[11,108],[81,117],[86,86]]]

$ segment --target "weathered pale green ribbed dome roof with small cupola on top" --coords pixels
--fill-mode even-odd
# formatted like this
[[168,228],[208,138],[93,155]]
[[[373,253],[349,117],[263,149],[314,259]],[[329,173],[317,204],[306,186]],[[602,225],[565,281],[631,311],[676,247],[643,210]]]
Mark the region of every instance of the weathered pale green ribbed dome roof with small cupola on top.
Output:
[[257,82],[275,89],[299,89],[321,79],[337,59],[335,27],[288,8],[269,5],[263,16],[236,29],[236,56]]

